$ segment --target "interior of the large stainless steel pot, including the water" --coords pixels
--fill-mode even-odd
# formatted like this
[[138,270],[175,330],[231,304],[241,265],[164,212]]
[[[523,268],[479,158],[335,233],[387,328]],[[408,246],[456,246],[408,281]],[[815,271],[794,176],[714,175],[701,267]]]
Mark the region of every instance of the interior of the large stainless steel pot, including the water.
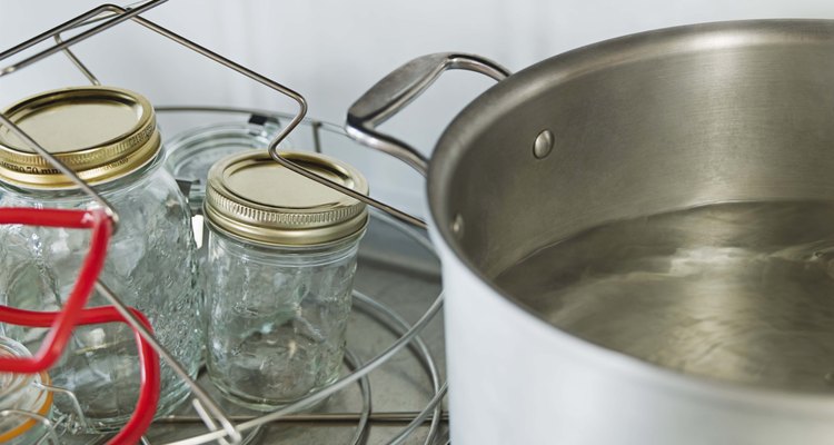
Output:
[[682,373],[832,392],[833,53],[832,21],[751,21],[530,67],[440,139],[438,230],[567,333]]

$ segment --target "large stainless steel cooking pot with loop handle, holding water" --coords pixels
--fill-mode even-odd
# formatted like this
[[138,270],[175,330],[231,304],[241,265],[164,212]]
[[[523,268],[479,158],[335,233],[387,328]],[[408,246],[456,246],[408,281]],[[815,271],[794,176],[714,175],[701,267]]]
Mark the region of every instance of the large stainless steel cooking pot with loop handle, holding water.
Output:
[[[349,132],[425,168],[416,150],[376,126],[449,68],[505,75],[470,56],[416,59],[355,103]],[[812,237],[830,248],[834,220],[826,218],[834,212],[825,202],[834,197],[833,171],[834,21],[644,32],[500,80],[446,128],[428,167],[429,228],[447,296],[451,442],[832,443],[834,387],[825,367],[834,369],[834,294],[826,293],[826,277],[814,276],[820,291],[802,297],[802,280],[758,298],[725,286],[726,274],[706,274],[706,281],[665,296],[635,295],[641,288],[623,285],[622,295],[586,301],[594,328],[613,327],[607,337],[593,337],[559,318],[570,304],[583,304],[580,295],[573,303],[548,300],[550,287],[576,275],[589,254],[564,250],[549,269],[517,265],[606,222],[631,221],[612,227],[639,231],[635,218],[654,221],[715,202],[752,207],[729,216],[708,207],[701,219],[662,218],[647,227],[661,244],[689,236],[702,247],[737,250],[749,231],[767,246]],[[759,218],[755,202],[782,202],[782,216]],[[822,228],[800,224],[803,218],[821,220]],[[592,235],[628,238],[627,230]],[[820,243],[812,256],[827,261]],[[732,263],[736,250],[726,249],[729,275],[745,273]],[[669,255],[678,250],[673,246]],[[515,270],[518,286],[499,283],[506,270]],[[704,283],[713,287],[701,291]],[[629,305],[642,308],[646,298],[663,304],[635,314]],[[631,354],[627,342],[609,346],[620,335],[645,339],[672,359]],[[718,339],[707,346],[729,345],[737,355],[695,366],[712,353],[698,349],[704,335]]]

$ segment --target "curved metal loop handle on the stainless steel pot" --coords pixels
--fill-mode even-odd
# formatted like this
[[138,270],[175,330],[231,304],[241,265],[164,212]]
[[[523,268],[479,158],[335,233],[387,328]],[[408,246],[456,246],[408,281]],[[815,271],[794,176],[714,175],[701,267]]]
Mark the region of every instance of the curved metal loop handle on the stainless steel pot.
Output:
[[444,71],[463,69],[504,80],[509,70],[480,56],[437,52],[418,57],[391,71],[348,109],[345,129],[357,141],[411,166],[424,177],[428,159],[408,144],[377,131],[376,127],[423,93]]

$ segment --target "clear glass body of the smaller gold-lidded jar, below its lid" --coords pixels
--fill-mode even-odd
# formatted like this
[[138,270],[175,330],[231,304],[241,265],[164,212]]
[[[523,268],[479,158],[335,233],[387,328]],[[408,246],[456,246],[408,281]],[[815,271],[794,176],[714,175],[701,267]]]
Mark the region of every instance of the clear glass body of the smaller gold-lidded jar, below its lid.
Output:
[[209,226],[207,365],[230,400],[274,409],[339,377],[360,233],[267,247]]

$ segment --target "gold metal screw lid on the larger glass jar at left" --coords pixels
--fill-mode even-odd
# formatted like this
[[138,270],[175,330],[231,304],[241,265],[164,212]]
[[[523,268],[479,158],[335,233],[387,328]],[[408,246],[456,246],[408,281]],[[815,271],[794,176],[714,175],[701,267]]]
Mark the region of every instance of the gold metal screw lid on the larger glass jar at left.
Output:
[[[123,177],[151,161],[160,149],[150,102],[120,88],[73,87],[47,91],[2,112],[91,184]],[[66,176],[2,126],[0,180],[26,188],[73,187]]]

